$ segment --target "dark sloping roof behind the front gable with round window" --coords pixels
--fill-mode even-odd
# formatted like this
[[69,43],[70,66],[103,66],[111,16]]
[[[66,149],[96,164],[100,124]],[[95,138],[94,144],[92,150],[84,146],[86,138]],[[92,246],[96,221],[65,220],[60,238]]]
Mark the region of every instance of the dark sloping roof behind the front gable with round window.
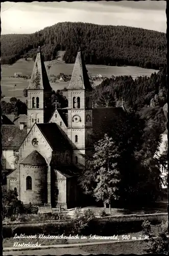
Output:
[[66,150],[70,144],[56,123],[37,123],[36,124],[47,142],[53,150]]

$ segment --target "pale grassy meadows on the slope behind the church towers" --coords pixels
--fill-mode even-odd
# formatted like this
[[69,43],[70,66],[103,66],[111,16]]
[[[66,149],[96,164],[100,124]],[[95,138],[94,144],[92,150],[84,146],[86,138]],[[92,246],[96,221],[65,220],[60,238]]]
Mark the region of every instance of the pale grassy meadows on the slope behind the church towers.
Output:
[[[66,75],[71,75],[73,72],[74,64],[66,64],[62,61],[62,56],[64,52],[59,52],[58,59],[54,61],[45,61],[45,67],[47,74],[50,75],[59,75],[64,73]],[[50,69],[47,69],[47,66],[51,65]],[[2,93],[5,95],[4,100],[9,101],[11,97],[19,98],[22,101],[26,101],[26,98],[23,97],[23,89],[28,87],[29,80],[14,78],[16,72],[22,73],[22,75],[31,75],[34,67],[34,62],[32,59],[19,59],[13,65],[2,65],[2,79],[1,87]],[[88,70],[88,75],[96,76],[101,74],[104,77],[121,76],[121,75],[131,75],[133,78],[137,76],[150,76],[155,70],[152,69],[142,69],[138,67],[110,67],[103,65],[86,65]],[[95,81],[95,85],[98,85],[101,81]],[[14,85],[16,84],[16,87]],[[67,88],[69,82],[58,81],[57,83],[51,83],[51,87],[56,91],[58,89]],[[67,96],[67,92],[64,93]]]

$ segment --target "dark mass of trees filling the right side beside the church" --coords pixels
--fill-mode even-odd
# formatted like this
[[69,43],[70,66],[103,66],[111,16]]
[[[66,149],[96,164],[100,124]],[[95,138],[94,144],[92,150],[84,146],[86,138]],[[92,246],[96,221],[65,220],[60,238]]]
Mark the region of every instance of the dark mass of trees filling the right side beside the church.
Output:
[[122,106],[124,113],[113,118],[106,135],[93,136],[94,154],[79,178],[82,188],[109,207],[149,206],[165,195],[159,164],[166,164],[167,145],[160,158],[157,152],[166,132],[166,70],[135,80],[105,79],[92,96],[94,107]]

